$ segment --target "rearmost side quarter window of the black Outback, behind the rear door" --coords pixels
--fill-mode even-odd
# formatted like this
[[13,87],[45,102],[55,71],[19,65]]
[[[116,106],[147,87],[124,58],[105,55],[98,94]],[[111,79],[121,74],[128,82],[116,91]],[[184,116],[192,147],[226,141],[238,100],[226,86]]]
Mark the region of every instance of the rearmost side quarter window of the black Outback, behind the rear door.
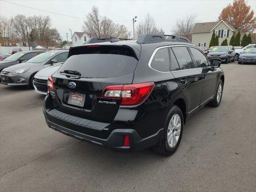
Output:
[[159,49],[154,55],[150,66],[160,72],[170,72],[168,48]]

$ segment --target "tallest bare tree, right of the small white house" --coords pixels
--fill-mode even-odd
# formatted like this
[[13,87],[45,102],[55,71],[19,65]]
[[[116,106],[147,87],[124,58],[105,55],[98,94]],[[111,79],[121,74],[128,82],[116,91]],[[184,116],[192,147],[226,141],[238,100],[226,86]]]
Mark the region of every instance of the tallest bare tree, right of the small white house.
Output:
[[95,33],[98,37],[109,37],[116,34],[118,27],[118,24],[115,24],[106,16],[100,16],[98,8],[93,6],[92,11],[86,16],[86,20],[84,20],[82,30]]

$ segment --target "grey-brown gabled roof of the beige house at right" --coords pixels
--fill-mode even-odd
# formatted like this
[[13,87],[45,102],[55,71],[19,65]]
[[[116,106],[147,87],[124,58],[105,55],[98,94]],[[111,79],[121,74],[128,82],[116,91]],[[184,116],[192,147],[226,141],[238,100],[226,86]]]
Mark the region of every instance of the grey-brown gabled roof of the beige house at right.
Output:
[[221,20],[214,22],[196,23],[194,28],[192,29],[192,33],[211,32],[220,22],[224,22],[224,24],[226,24],[232,31],[237,31],[232,25]]

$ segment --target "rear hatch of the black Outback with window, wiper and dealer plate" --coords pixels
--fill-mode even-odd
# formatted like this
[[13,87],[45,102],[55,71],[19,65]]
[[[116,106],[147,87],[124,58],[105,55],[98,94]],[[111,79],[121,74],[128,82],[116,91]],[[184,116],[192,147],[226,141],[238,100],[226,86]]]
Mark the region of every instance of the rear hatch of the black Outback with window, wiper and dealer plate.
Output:
[[129,46],[94,45],[70,49],[68,60],[52,75],[54,108],[65,114],[111,123],[119,98],[102,98],[110,85],[132,84],[138,55]]

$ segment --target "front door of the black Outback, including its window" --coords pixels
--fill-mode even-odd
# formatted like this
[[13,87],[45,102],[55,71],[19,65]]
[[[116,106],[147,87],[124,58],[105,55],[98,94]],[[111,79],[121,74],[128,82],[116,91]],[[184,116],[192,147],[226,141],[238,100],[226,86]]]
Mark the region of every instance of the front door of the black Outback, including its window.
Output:
[[203,90],[200,104],[203,105],[214,96],[216,91],[216,86],[218,83],[217,69],[211,69],[210,62],[206,56],[204,56],[204,54],[202,54],[202,52],[200,52],[198,49],[189,47],[189,50],[194,58],[196,67],[202,74]]

